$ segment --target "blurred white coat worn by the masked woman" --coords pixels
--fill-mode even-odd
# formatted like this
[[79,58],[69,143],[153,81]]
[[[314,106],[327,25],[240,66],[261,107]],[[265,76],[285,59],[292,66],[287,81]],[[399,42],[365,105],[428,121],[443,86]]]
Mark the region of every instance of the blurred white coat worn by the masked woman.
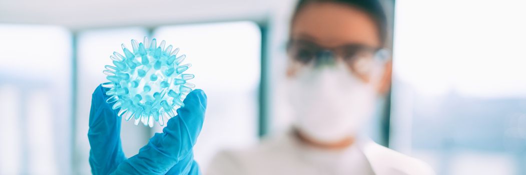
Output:
[[382,147],[369,138],[356,139],[343,150],[321,150],[301,144],[291,132],[270,137],[252,148],[219,152],[206,174],[434,174],[424,162]]

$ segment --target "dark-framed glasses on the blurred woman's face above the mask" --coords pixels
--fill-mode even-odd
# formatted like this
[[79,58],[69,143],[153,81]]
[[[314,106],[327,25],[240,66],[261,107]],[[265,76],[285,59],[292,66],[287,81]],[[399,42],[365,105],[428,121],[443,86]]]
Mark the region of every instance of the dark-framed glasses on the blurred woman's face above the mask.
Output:
[[326,48],[308,40],[290,40],[287,44],[287,53],[298,63],[313,65],[316,68],[345,63],[358,76],[369,76],[374,66],[385,63],[389,58],[389,52],[383,48],[361,44]]

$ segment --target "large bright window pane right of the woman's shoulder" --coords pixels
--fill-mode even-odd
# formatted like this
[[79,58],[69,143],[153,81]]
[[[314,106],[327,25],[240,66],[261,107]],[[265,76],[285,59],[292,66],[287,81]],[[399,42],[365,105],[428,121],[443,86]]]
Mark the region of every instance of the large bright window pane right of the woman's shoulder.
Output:
[[391,146],[438,174],[526,174],[526,2],[396,3]]

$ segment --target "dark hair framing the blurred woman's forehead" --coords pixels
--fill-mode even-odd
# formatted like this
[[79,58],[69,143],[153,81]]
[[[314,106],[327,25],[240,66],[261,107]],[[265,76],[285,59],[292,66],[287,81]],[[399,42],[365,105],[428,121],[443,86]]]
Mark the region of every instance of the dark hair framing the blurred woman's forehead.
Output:
[[[342,5],[348,5],[356,7],[359,10],[367,13],[371,19],[375,22],[378,35],[380,36],[380,42],[382,45],[385,44],[387,39],[387,17],[385,12],[383,12],[382,5],[377,0],[299,0],[296,5],[294,14],[292,15],[292,23],[296,19],[296,15],[310,3],[338,3]],[[291,23],[291,24],[292,24]]]

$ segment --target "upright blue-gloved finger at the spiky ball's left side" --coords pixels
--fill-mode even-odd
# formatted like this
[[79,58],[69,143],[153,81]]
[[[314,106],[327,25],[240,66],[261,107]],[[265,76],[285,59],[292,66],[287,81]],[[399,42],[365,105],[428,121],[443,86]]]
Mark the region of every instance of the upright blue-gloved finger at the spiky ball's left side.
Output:
[[113,172],[126,157],[120,142],[120,117],[106,103],[106,88],[98,86],[89,111],[89,164],[93,174]]

